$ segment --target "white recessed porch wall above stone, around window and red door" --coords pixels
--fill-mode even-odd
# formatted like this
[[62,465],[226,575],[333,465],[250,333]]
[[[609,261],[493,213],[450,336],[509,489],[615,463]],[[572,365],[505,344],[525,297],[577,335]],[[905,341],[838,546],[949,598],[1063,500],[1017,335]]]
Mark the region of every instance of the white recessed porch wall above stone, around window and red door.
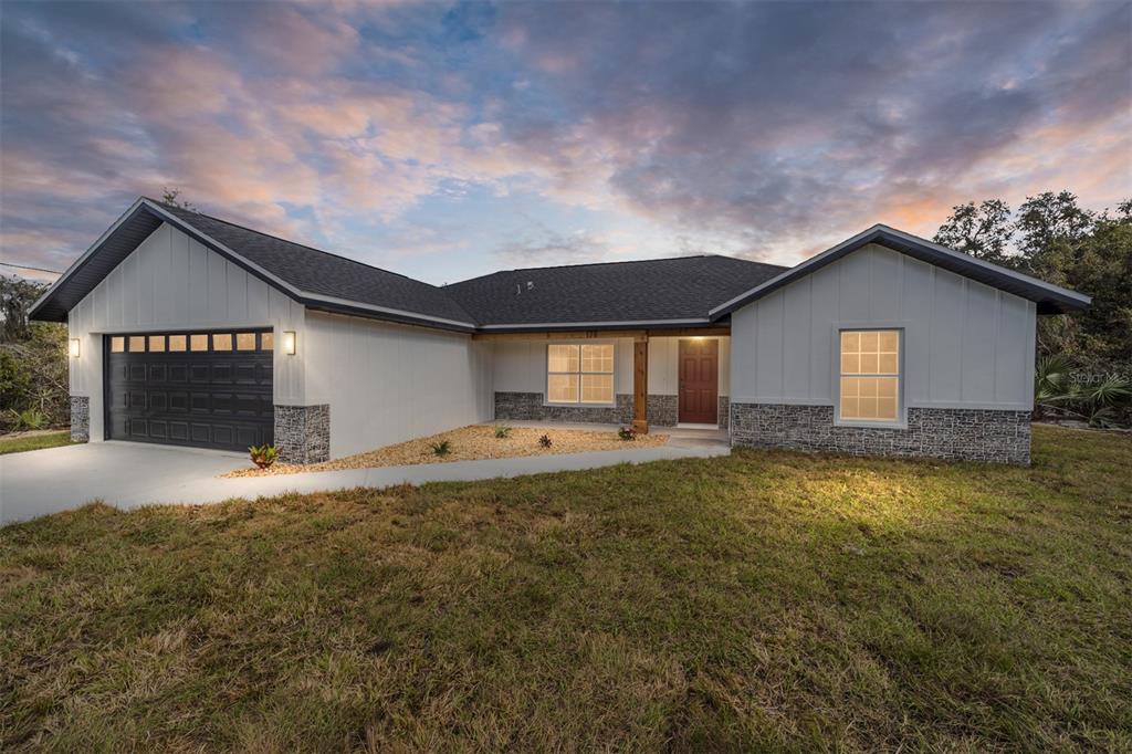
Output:
[[[633,393],[633,339],[612,339],[615,343],[616,392],[620,395]],[[649,393],[652,395],[676,395],[679,383],[678,337],[649,339]],[[718,337],[719,344],[719,394],[730,391],[730,339]],[[551,341],[552,342],[552,341]],[[560,341],[601,342],[594,341]],[[544,393],[547,382],[547,343],[541,340],[495,341],[495,391],[499,393]]]

